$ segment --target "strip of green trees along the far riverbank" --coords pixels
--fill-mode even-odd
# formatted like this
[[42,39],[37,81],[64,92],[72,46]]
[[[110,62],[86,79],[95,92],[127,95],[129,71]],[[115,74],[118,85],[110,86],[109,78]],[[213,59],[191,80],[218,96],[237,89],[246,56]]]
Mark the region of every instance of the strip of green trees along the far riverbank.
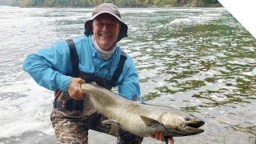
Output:
[[221,6],[218,0],[0,0],[0,5],[38,7],[94,7],[109,2],[118,7]]

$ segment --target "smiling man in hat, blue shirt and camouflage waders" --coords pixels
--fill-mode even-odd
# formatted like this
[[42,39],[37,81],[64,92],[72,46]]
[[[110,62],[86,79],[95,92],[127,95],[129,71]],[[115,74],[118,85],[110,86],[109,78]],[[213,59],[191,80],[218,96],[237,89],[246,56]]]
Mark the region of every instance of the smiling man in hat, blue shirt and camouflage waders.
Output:
[[[142,142],[141,137],[126,130],[110,132],[110,126],[102,125],[106,120],[102,114],[82,114],[82,82],[96,82],[108,90],[118,86],[122,97],[142,101],[134,62],[117,46],[127,30],[118,7],[104,3],[94,8],[92,18],[85,23],[86,36],[58,42],[26,58],[23,69],[40,86],[55,91],[50,120],[58,143],[88,143],[89,129],[112,134],[118,143]],[[164,141],[163,134],[152,134],[152,138]]]

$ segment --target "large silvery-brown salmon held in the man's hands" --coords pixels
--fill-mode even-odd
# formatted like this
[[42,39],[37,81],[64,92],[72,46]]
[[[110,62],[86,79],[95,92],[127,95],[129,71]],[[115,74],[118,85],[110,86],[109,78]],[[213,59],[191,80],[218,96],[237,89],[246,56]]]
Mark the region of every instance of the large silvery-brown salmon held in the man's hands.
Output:
[[199,127],[205,122],[181,110],[133,102],[94,84],[82,83],[81,89],[86,95],[84,114],[105,115],[109,119],[103,123],[110,124],[113,130],[121,127],[141,137],[155,132],[180,137],[204,131]]

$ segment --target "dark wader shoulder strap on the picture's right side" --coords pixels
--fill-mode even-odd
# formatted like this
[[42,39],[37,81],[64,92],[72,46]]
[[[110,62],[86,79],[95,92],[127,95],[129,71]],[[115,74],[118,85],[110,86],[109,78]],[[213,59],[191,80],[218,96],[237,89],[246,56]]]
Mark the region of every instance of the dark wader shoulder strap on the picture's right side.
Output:
[[111,81],[110,81],[110,84],[112,86],[116,85],[116,83],[118,82],[118,78],[122,74],[122,68],[125,65],[126,58],[127,58],[126,53],[124,53],[122,51],[122,54],[120,55],[120,59],[119,59],[119,62],[118,62],[118,67],[114,71],[113,77],[111,78]]

